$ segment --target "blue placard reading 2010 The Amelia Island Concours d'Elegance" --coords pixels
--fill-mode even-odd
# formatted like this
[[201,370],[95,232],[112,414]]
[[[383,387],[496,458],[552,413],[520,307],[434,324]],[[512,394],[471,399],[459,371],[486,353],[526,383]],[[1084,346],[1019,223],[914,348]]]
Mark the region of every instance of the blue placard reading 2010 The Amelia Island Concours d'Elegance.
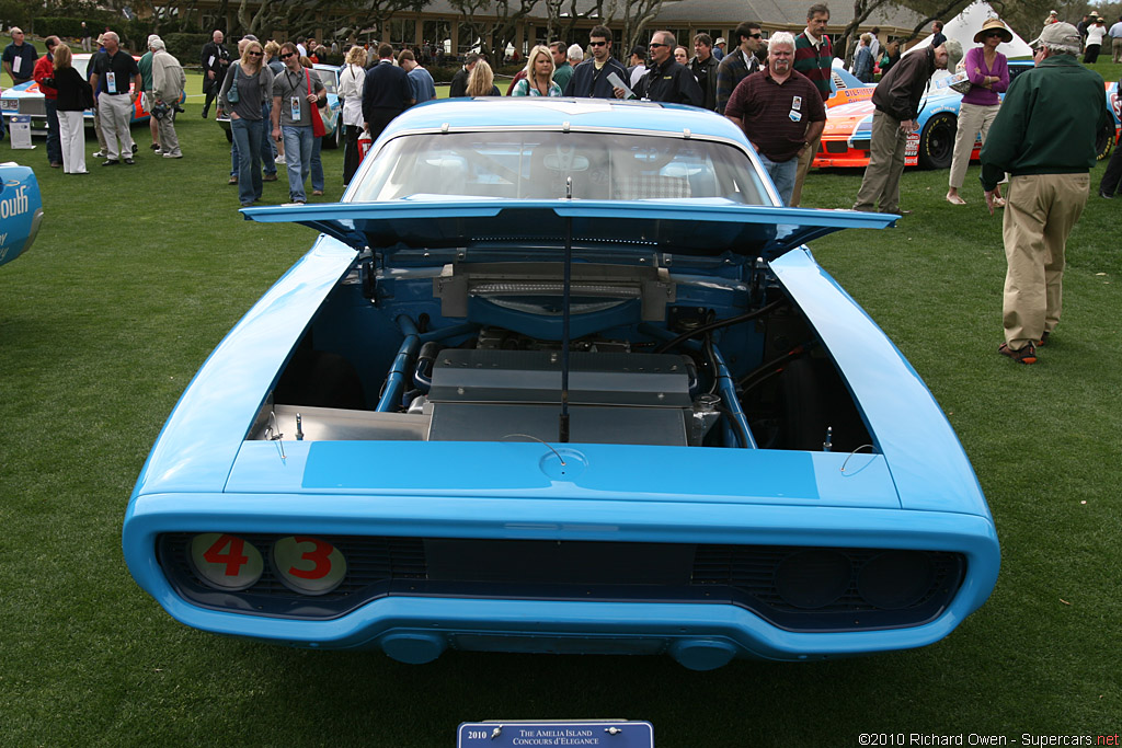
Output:
[[460,724],[457,748],[654,748],[650,722],[628,720],[488,720]]

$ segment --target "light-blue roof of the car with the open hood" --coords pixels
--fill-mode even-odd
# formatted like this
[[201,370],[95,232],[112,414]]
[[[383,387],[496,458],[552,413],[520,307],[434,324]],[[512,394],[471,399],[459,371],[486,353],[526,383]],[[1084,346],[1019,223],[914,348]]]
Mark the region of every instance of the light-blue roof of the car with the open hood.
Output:
[[440,130],[454,122],[457,130],[477,128],[563,128],[665,132],[709,137],[746,145],[738,127],[715,112],[681,104],[606,99],[528,96],[439,99],[412,107],[394,119],[385,137],[406,130]]

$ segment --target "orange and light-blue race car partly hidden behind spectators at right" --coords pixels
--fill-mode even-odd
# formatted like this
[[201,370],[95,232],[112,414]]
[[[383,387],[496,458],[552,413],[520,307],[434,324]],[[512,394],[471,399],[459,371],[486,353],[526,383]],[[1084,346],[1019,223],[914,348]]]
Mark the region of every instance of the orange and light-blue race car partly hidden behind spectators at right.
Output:
[[[1010,79],[1032,67],[1032,61],[1012,59],[1009,63]],[[947,85],[939,85],[949,75],[932,81],[923,99],[918,124],[919,130],[908,136],[905,166],[941,169],[950,166],[955,150],[955,131],[958,109],[963,94]],[[1106,105],[1114,113],[1114,127],[1098,135],[1096,148],[1098,158],[1104,158],[1118,141],[1122,112],[1118,101],[1118,83],[1106,83]],[[872,94],[870,94],[870,98]],[[1004,98],[1004,95],[1002,96]],[[826,128],[818,147],[813,166],[861,167],[868,165],[868,144],[873,132],[873,102],[871,100],[834,107],[826,111]],[[975,141],[972,160],[977,160],[982,139]]]

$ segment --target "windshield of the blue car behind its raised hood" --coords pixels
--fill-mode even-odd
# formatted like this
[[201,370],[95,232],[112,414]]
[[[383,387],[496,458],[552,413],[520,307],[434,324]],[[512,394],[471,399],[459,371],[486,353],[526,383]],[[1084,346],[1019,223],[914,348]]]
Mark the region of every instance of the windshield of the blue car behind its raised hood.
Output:
[[680,136],[495,131],[410,135],[388,142],[350,202],[410,195],[513,200],[724,197],[770,205],[744,151]]

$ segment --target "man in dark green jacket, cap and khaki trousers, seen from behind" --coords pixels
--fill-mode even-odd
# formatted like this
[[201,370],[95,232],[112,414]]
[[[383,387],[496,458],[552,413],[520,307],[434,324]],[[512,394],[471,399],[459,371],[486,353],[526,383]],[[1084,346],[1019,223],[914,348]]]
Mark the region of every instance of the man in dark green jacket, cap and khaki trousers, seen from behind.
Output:
[[1032,41],[1036,67],[1013,80],[982,148],[982,187],[1010,174],[1005,218],[1005,342],[997,352],[1036,363],[1059,322],[1064,252],[1087,204],[1095,135],[1112,121],[1103,79],[1079,64],[1079,31],[1045,26]]

